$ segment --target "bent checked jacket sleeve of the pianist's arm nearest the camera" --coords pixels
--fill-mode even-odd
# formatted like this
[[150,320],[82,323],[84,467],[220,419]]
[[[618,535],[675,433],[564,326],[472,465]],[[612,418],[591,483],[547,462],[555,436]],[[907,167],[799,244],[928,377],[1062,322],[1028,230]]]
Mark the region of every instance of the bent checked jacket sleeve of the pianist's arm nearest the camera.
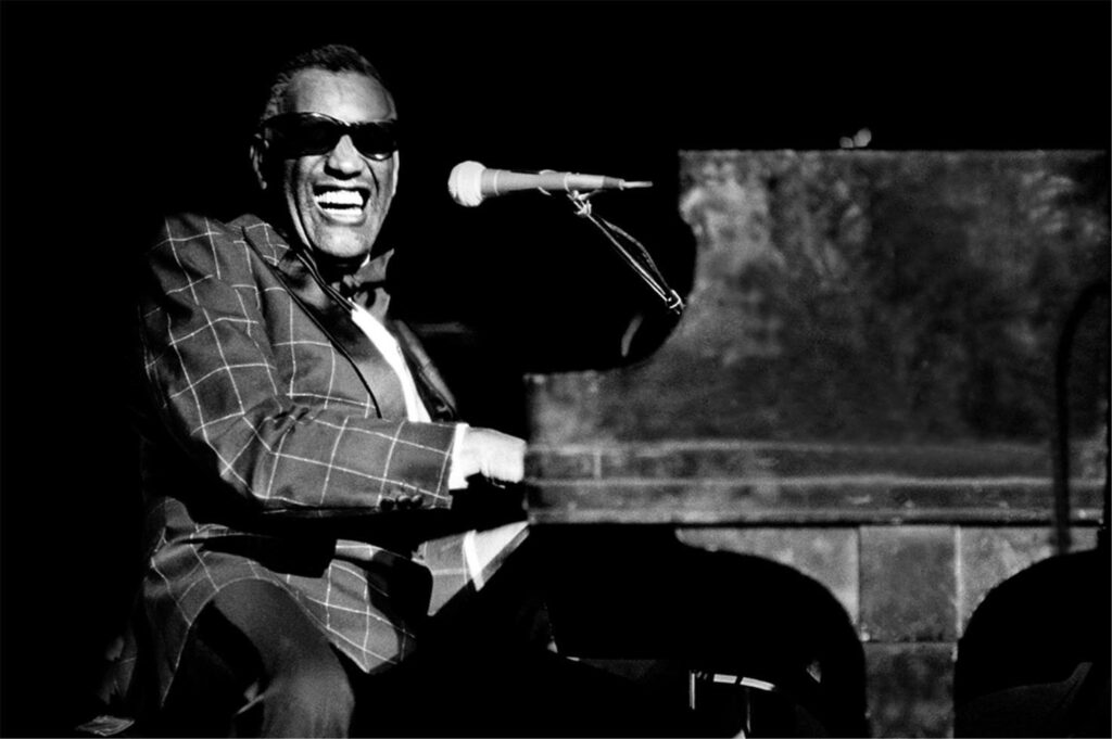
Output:
[[[259,291],[281,288],[257,281],[259,267],[234,231],[198,218],[167,221],[142,260],[145,377],[180,451],[227,483],[218,489],[270,515],[449,507],[455,425],[380,419],[351,388],[295,393],[297,359],[344,360],[297,353],[306,329],[292,301],[264,311]],[[282,351],[295,353],[279,362]]]

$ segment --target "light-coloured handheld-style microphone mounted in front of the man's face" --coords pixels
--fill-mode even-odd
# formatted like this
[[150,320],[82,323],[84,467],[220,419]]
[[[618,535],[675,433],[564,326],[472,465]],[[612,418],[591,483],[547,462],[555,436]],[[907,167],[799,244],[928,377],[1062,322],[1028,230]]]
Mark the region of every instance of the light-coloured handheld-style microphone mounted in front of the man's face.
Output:
[[487,169],[477,161],[456,164],[448,177],[448,192],[460,206],[474,208],[486,198],[493,198],[516,190],[557,190],[562,192],[584,192],[590,190],[628,190],[651,188],[652,182],[627,182],[615,177],[599,174],[576,174],[545,170],[537,173],[512,172],[505,169]]

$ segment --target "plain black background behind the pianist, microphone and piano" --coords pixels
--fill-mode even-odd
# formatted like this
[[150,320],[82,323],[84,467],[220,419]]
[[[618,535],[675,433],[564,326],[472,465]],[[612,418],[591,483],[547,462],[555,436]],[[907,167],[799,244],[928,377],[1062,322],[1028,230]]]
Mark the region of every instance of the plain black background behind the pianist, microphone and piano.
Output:
[[679,149],[834,149],[863,128],[873,149],[1109,143],[1106,2],[6,1],[0,13],[8,735],[66,731],[120,610],[136,475],[119,400],[127,260],[162,212],[236,214],[266,80],[289,54],[351,43],[395,91],[398,304],[495,337],[476,363],[512,349],[519,366],[590,364],[648,298],[559,198],[451,203],[458,161],[656,181],[596,208],[684,288]]

